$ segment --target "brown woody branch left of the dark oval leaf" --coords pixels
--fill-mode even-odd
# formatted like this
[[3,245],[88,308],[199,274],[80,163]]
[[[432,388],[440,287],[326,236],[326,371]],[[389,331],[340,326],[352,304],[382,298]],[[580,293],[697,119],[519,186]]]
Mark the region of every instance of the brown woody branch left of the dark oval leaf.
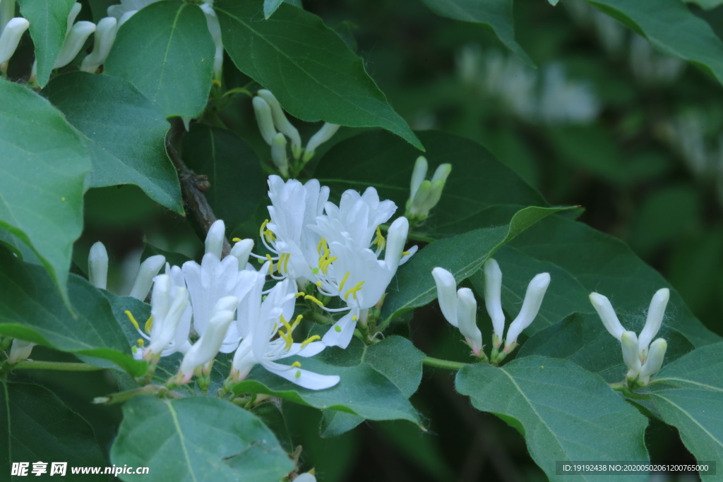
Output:
[[[171,130],[166,135],[166,152],[171,162],[174,163],[176,172],[179,175],[181,183],[181,194],[183,194],[184,207],[186,212],[193,216],[194,220],[200,225],[204,233],[208,233],[208,229],[217,220],[213,209],[208,204],[205,191],[208,191],[211,184],[208,182],[207,176],[200,176],[194,173],[186,163],[184,163],[181,154],[176,149],[174,142],[179,142],[185,132],[181,119],[171,120]],[[222,255],[225,257],[231,252],[231,245],[228,240],[223,240]]]

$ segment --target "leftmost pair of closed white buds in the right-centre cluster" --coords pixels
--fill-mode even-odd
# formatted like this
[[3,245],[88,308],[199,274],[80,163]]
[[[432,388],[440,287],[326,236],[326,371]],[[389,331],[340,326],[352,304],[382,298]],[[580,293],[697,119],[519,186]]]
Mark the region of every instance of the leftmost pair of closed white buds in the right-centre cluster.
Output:
[[475,356],[482,356],[482,332],[477,327],[477,301],[469,288],[460,288],[452,273],[436,267],[432,276],[437,284],[437,300],[445,319],[459,329]]

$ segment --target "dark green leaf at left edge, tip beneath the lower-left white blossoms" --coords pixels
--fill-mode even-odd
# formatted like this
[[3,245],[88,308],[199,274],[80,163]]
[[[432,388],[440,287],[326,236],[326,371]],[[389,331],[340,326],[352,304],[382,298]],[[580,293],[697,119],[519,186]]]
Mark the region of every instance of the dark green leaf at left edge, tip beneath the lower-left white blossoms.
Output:
[[[71,312],[43,268],[0,250],[0,333],[78,355],[112,361],[134,376],[145,361],[131,355],[111,306],[87,280],[70,275]],[[109,367],[101,363],[98,366]]]

